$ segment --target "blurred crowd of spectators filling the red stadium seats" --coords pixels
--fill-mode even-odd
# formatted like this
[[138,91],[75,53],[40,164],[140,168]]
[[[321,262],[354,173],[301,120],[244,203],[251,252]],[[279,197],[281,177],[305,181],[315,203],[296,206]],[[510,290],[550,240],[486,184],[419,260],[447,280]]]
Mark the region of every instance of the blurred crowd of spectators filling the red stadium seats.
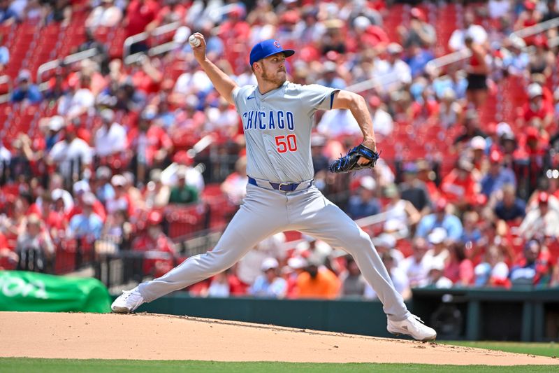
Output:
[[[98,27],[133,35],[169,22],[182,26],[164,55],[142,54],[130,65],[107,55],[61,64],[43,91],[29,71],[20,71],[10,105],[46,105],[52,115],[41,118],[34,136],[0,142],[1,267],[45,270],[64,240],[103,250],[107,245],[96,242],[110,241],[150,251],[143,274],[156,276],[177,259],[166,206],[198,204],[208,182],[221,183],[229,205],[240,204],[247,183],[242,129],[235,108],[219,98],[191,55],[187,38],[201,31],[208,57],[239,85],[255,83],[247,63],[252,44],[272,37],[296,50],[288,66],[295,83],[344,89],[370,80],[362,93],[380,150],[398,146],[400,128],[443,135],[435,145],[449,143],[447,153],[435,147],[419,160],[382,157],[373,171],[340,178],[328,174],[328,162],[361,140],[358,124],[349,111],[327,111],[313,129],[316,185],[333,198],[341,194],[336,201],[349,216],[363,219],[402,295],[416,286],[559,284],[559,82],[551,43],[557,29],[511,36],[557,17],[557,1],[464,6],[448,43],[438,40],[428,6],[402,8],[402,24],[389,36],[384,22],[391,8],[383,0],[261,0],[249,8],[220,0],[103,0],[90,7],[87,41],[78,50],[104,50],[95,40]],[[64,22],[72,6],[4,0],[0,9],[0,22]],[[433,68],[428,62],[441,46],[470,50],[470,57]],[[131,52],[149,47],[150,39]],[[509,122],[486,120],[488,97],[511,77],[521,81],[525,102]],[[208,135],[213,157],[208,149],[187,151]],[[209,171],[222,162],[217,155],[233,162],[216,180]],[[367,223],[369,216],[381,223]],[[343,252],[306,237],[291,247],[284,234],[189,290],[375,297]]]

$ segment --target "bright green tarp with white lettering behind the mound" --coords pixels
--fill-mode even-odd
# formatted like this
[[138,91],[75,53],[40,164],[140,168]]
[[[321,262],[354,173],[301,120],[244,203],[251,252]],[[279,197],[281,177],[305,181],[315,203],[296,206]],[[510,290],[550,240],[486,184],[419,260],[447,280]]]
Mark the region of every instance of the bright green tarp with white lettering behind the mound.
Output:
[[0,311],[110,312],[101,281],[23,271],[0,271]]

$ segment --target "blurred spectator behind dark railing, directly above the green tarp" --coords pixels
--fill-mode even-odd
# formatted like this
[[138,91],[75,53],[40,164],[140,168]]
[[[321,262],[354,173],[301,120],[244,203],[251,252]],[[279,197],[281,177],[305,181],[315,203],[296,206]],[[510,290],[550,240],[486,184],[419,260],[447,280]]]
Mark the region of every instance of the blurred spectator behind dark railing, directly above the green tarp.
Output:
[[42,225],[41,218],[36,214],[27,217],[25,230],[17,236],[17,269],[33,272],[50,270],[49,263],[55,256],[55,246]]

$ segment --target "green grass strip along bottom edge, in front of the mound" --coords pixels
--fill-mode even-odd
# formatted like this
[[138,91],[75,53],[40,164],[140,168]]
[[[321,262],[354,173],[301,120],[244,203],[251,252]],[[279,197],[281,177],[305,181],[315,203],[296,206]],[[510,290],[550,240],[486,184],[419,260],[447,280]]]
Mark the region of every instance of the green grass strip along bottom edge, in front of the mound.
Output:
[[423,365],[423,364],[314,364],[314,363],[227,363],[195,360],[65,360],[0,358],[0,372],[559,372],[544,365],[489,367],[487,365]]

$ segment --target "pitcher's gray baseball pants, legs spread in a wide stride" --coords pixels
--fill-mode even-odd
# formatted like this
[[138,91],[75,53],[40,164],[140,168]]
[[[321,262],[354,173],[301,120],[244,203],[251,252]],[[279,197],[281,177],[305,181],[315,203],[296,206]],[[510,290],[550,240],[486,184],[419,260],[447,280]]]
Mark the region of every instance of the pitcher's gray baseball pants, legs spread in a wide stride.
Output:
[[298,230],[347,251],[377,293],[388,318],[402,321],[409,316],[369,235],[314,185],[294,192],[247,185],[247,196],[215,248],[184,260],[158,279],[140,283],[140,294],[151,302],[214,276],[232,267],[266,237],[286,230]]

